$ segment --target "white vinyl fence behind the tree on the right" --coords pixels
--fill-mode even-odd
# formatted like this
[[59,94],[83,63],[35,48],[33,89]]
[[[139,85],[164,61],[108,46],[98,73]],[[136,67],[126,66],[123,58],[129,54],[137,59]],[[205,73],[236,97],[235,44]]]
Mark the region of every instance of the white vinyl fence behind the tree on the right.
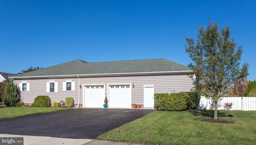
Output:
[[[230,110],[256,111],[256,97],[222,97],[218,101],[218,109],[224,109],[224,103],[233,103]],[[201,96],[200,103],[196,109],[214,109],[211,99]]]

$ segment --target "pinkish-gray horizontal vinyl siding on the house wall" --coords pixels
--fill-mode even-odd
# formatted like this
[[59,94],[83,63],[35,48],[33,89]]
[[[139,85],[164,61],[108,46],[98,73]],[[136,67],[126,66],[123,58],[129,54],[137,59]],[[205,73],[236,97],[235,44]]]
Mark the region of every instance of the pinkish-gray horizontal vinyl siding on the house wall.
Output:
[[[66,80],[75,81],[75,91],[62,91],[62,82]],[[24,103],[34,102],[34,98],[38,95],[48,95],[51,103],[55,101],[64,101],[66,97],[73,97],[74,104],[78,104],[78,78],[66,79],[32,79],[32,80],[16,80],[15,83],[19,85],[22,81],[30,83],[30,91],[22,91],[21,96]],[[58,92],[46,93],[46,82],[58,81]],[[177,75],[144,75],[144,76],[124,76],[124,77],[86,77],[80,78],[80,84],[131,84],[132,88],[132,103],[144,104],[144,85],[154,85],[154,93],[167,93],[170,90],[175,90],[177,93],[181,91],[190,91],[193,87],[191,78],[188,74]],[[83,92],[80,89],[80,105],[83,101]],[[103,103],[103,99],[102,99]]]

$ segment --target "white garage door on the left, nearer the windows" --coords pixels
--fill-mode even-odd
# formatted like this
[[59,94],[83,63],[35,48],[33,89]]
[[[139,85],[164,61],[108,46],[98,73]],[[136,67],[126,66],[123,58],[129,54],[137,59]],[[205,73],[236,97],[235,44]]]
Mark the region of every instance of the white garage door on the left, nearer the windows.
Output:
[[104,85],[85,86],[84,107],[102,107],[105,99]]

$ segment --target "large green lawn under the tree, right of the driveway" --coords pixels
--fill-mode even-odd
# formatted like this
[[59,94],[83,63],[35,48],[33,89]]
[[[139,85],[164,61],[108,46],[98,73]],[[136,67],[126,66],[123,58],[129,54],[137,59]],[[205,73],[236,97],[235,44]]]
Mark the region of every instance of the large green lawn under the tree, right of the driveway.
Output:
[[98,140],[164,145],[253,145],[256,111],[218,111],[218,119],[235,123],[198,121],[213,117],[213,110],[154,111],[97,137]]

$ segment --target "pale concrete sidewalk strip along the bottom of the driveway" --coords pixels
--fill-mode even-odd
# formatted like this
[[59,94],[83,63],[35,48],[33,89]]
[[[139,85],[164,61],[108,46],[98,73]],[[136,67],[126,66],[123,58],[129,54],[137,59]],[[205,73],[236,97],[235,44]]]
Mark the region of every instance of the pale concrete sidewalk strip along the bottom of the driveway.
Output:
[[142,145],[117,141],[98,141],[93,139],[67,139],[58,137],[40,137],[29,135],[0,134],[0,137],[23,137],[24,145]]

